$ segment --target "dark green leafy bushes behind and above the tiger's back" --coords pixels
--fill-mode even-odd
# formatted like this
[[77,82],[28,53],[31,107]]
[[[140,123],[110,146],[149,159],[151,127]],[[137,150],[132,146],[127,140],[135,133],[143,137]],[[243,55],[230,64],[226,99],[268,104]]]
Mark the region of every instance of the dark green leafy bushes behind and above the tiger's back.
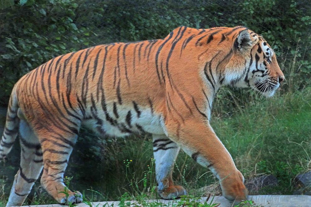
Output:
[[292,80],[283,87],[301,89],[311,73],[310,7],[307,0],[1,1],[0,105],[7,105],[22,75],[55,56],[103,43],[164,38],[181,25],[248,26],[277,45],[281,69]]

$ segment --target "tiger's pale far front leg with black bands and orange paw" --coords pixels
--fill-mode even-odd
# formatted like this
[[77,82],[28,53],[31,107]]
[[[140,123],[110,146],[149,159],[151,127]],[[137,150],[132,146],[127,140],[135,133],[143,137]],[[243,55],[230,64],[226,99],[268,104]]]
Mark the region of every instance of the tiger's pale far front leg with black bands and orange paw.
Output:
[[180,147],[165,135],[153,135],[153,154],[156,163],[158,193],[164,199],[174,199],[186,195],[182,186],[175,186],[172,173]]

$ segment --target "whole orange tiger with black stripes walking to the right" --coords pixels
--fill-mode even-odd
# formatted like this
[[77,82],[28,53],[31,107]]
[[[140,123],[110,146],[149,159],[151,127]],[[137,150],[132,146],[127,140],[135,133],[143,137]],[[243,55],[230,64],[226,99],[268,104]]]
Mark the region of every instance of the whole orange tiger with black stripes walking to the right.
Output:
[[103,136],[152,136],[157,192],[187,195],[172,178],[182,149],[211,170],[228,200],[246,200],[244,177],[210,125],[221,86],[254,88],[272,97],[285,79],[267,41],[245,26],[181,26],[163,39],[110,43],[71,52],[24,75],[12,89],[0,158],[18,135],[20,167],[7,206],[19,206],[41,176],[58,203],[68,195],[64,173],[82,124]]

